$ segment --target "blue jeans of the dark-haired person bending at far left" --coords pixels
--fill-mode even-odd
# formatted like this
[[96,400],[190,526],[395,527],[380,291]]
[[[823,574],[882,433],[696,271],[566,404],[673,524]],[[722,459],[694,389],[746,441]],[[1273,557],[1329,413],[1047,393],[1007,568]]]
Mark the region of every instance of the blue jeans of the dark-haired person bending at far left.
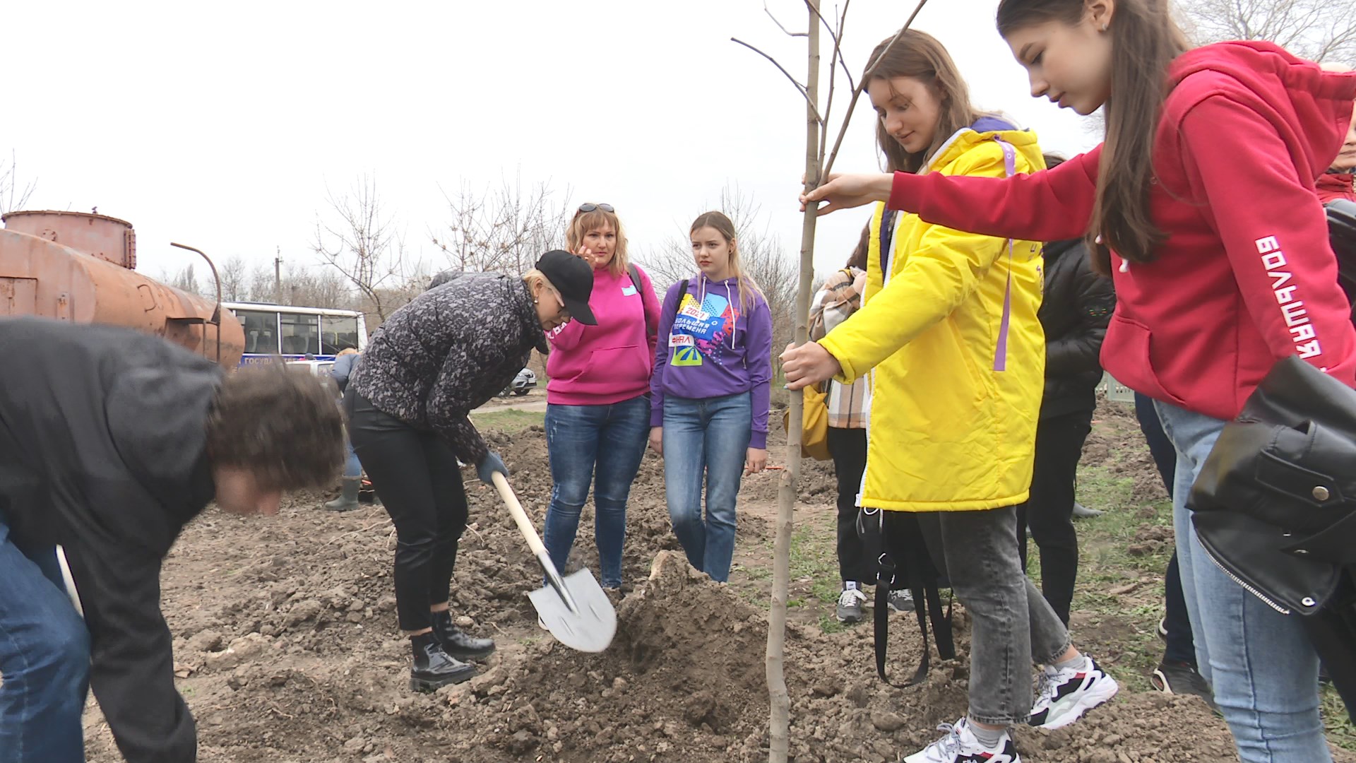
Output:
[[20,551],[0,515],[0,763],[84,760],[89,633],[56,548]]

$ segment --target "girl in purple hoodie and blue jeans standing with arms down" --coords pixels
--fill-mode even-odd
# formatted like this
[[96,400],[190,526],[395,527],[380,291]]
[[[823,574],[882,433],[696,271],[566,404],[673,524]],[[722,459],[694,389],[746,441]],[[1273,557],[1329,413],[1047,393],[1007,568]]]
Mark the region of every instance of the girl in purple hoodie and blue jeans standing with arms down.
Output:
[[664,456],[669,516],[687,561],[724,582],[735,553],[739,479],[767,466],[772,314],[740,267],[730,217],[706,212],[690,235],[698,273],[664,295],[650,447]]

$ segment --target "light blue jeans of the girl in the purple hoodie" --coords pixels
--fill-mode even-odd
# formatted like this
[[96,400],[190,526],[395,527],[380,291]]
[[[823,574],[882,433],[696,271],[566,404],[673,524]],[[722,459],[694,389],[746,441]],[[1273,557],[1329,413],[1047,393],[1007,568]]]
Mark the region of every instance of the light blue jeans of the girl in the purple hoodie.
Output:
[[[735,555],[735,498],[753,437],[753,398],[664,398],[664,493],[692,566],[724,582]],[[706,517],[701,483],[706,482]]]

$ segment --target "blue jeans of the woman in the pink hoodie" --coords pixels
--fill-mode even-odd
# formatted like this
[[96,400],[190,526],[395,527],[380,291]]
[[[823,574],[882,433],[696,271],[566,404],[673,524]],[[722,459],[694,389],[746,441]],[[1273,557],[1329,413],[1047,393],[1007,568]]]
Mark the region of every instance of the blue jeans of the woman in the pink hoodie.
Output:
[[579,513],[594,489],[594,543],[603,588],[621,585],[621,547],[626,539],[626,497],[650,440],[650,398],[606,406],[546,406],[551,456],[551,506],[542,543],[564,572],[579,532]]

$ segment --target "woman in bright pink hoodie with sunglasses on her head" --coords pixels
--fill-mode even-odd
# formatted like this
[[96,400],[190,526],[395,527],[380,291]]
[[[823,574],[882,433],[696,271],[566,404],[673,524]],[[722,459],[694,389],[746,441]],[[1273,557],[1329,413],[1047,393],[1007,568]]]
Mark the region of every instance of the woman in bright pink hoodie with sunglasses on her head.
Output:
[[545,425],[555,487],[544,542],[564,570],[593,483],[599,577],[617,589],[626,497],[650,436],[659,301],[650,276],[626,258],[626,234],[612,205],[580,205],[565,240],[594,266],[589,304],[598,324],[571,320],[548,334]]

